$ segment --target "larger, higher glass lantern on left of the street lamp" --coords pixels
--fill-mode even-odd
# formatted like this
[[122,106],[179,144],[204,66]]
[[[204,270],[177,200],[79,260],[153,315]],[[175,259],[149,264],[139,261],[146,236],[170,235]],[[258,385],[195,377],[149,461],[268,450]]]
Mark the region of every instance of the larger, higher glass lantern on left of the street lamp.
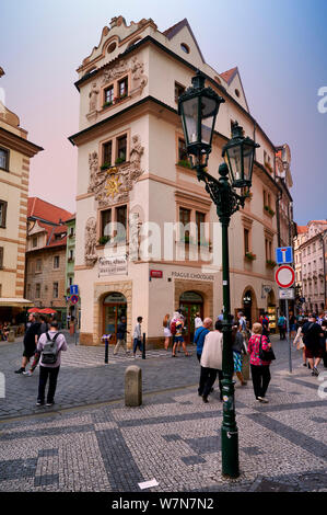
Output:
[[211,152],[214,123],[219,106],[224,100],[211,88],[205,88],[205,76],[199,70],[192,87],[178,99],[187,153],[197,156]]

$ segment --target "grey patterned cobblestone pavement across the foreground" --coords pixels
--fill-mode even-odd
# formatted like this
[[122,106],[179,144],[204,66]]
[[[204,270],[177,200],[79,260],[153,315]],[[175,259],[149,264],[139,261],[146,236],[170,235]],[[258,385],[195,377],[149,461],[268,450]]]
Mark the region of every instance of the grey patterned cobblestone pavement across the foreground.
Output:
[[[34,407],[35,377],[13,374],[20,344],[0,345],[7,397],[0,399],[0,491],[151,492],[327,491],[326,400],[318,380],[293,352],[275,342],[269,404],[258,404],[252,384],[236,385],[241,477],[221,476],[222,404],[197,394],[195,353],[172,359],[149,352],[145,360],[109,357],[71,343],[59,374],[56,405]],[[124,371],[137,363],[143,403],[126,408]],[[78,364],[78,366],[77,366]],[[3,366],[4,365],[4,366]],[[155,393],[154,393],[155,392]],[[116,399],[116,400],[115,400]],[[93,404],[77,408],[80,404]],[[15,419],[10,419],[15,416]]]

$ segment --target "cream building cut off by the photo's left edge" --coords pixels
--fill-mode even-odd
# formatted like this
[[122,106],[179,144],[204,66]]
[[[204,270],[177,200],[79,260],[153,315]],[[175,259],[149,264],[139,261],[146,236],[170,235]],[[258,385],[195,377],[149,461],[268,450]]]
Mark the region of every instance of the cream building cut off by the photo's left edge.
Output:
[[24,298],[30,162],[42,150],[0,101],[0,323],[24,322],[32,306]]

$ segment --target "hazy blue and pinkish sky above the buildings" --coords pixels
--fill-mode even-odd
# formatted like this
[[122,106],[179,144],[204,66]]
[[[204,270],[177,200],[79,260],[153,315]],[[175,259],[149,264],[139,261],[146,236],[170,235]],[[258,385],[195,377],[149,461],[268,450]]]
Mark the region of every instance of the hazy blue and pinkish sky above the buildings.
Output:
[[327,87],[325,0],[1,0],[0,87],[45,148],[32,161],[31,195],[75,208],[77,149],[67,140],[78,131],[75,69],[119,14],[128,24],[152,18],[160,31],[187,18],[210,66],[238,66],[253,116],[291,147],[295,221],[326,218],[327,113],[317,108]]

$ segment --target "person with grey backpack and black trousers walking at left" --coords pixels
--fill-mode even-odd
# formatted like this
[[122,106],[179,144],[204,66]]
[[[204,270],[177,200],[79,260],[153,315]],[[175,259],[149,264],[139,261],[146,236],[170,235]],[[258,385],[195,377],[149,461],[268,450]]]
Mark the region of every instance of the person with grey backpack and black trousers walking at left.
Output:
[[46,405],[50,407],[55,403],[55,393],[61,363],[61,351],[67,351],[67,348],[66,337],[63,334],[58,332],[57,320],[51,321],[50,330],[43,333],[37,343],[37,351],[40,353],[40,359],[36,405],[43,405],[45,402],[45,390],[48,379],[49,388]]

